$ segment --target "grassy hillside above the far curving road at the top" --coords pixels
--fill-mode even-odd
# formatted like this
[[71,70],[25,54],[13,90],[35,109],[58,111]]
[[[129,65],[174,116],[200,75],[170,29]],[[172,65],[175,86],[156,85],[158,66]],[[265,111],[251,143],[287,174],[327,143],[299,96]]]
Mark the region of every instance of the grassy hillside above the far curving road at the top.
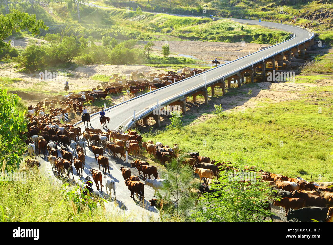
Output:
[[[209,16],[210,14],[227,18],[263,19],[305,26],[323,34],[333,36],[332,0],[172,0],[126,2],[118,0],[100,0],[96,4],[119,8],[141,7],[144,11],[167,12],[173,14]],[[294,17],[296,16],[296,21]],[[323,38],[324,38],[323,36]],[[329,40],[327,40],[329,41]]]

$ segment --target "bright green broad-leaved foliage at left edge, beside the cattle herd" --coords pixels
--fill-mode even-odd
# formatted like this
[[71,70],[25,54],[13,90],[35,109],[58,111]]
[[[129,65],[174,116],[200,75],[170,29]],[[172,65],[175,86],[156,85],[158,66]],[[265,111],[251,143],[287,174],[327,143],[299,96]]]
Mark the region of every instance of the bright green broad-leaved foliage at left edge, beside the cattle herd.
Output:
[[26,120],[19,100],[0,85],[0,171],[14,171],[22,160],[24,146],[19,133],[26,129]]

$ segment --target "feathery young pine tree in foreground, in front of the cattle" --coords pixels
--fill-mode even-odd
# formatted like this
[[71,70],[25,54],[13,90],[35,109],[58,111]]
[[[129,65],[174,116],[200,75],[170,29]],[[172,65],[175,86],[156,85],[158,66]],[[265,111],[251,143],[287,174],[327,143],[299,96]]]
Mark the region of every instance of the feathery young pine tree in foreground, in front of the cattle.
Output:
[[198,188],[198,182],[193,181],[192,167],[181,164],[183,160],[183,157],[172,158],[171,162],[166,164],[163,194],[158,192],[157,197],[159,201],[175,203],[175,207],[169,206],[161,213],[162,217],[167,213],[177,219],[186,220],[194,208],[195,197],[191,195],[190,190]]

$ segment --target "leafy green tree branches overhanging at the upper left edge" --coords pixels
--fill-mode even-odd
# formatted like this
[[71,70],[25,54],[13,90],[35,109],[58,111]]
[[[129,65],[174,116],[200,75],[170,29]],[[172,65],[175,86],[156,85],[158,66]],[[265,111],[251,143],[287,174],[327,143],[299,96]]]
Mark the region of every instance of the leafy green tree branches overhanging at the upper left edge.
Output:
[[12,35],[13,31],[28,30],[35,35],[40,33],[40,29],[47,30],[48,27],[42,20],[36,20],[36,15],[21,12],[13,9],[7,15],[0,15],[0,48],[8,47],[4,40]]

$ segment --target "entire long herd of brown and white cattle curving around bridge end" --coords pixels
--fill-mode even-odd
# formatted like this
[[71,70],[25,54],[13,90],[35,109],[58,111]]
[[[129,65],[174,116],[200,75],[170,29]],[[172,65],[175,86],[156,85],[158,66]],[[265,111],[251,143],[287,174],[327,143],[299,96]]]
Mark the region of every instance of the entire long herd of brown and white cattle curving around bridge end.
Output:
[[[177,144],[173,146],[163,145],[161,142],[149,140],[143,142],[143,138],[137,132],[129,129],[127,133],[121,130],[108,130],[102,132],[101,129],[86,128],[83,132],[80,127],[74,127],[70,124],[62,124],[62,116],[64,113],[70,112],[72,109],[77,109],[82,112],[83,102],[91,100],[92,102],[98,98],[105,98],[103,94],[118,93],[123,88],[127,88],[131,91],[131,94],[135,94],[136,90],[144,90],[145,88],[156,89],[166,86],[173,81],[179,81],[193,75],[194,72],[199,73],[196,69],[184,70],[180,74],[178,72],[168,72],[168,74],[150,74],[150,81],[138,81],[138,80],[121,80],[121,77],[114,74],[114,77],[110,80],[116,80],[110,85],[105,82],[102,83],[102,90],[99,91],[101,86],[97,89],[93,88],[92,91],[81,91],[78,94],[69,93],[68,95],[53,96],[46,98],[45,102],[38,102],[36,106],[30,105],[28,107],[28,113],[26,114],[29,122],[27,123],[28,131],[22,132],[22,135],[26,135],[26,143],[28,145],[28,151],[33,159],[28,159],[26,163],[29,166],[39,165],[36,160],[37,155],[47,155],[48,160],[52,166],[52,169],[60,176],[70,176],[74,179],[73,164],[76,169],[76,173],[83,177],[83,169],[85,168],[86,148],[89,148],[95,155],[95,160],[99,164],[104,174],[109,170],[109,159],[104,156],[104,153],[108,151],[115,158],[119,156],[121,159],[124,157],[126,160],[126,153],[133,154],[133,156],[139,156],[141,150],[147,151],[148,155],[156,157],[161,164],[170,162],[173,158],[177,158],[179,153],[179,147]],[[184,73],[184,74],[183,74]],[[146,73],[145,75],[148,75]],[[131,74],[131,79],[144,77],[143,73]],[[151,84],[153,81],[153,84]],[[162,85],[163,84],[163,85]],[[59,105],[59,107],[58,107]],[[45,107],[44,107],[45,106]],[[49,110],[49,114],[45,113],[45,110]],[[71,149],[71,150],[70,150]],[[61,156],[58,155],[58,150]],[[119,154],[119,155],[118,155]],[[212,160],[209,157],[199,156],[198,153],[188,153],[187,157],[183,158],[181,164],[190,165],[193,167],[193,172],[197,173],[200,182],[203,181],[198,189],[191,189],[190,193],[195,197],[200,197],[201,194],[214,193],[217,190],[210,188],[211,183],[218,183],[220,171],[254,171],[252,167],[246,167],[245,169],[238,169],[230,164],[230,162],[218,162]],[[139,159],[131,163],[132,167],[137,168],[139,175],[145,179],[145,183],[140,182],[138,176],[131,174],[129,168],[122,167],[120,170],[124,177],[125,185],[131,192],[131,198],[135,200],[134,194],[137,198],[140,196],[140,200],[144,199],[144,185],[151,186],[154,190],[154,196],[156,191],[163,188],[163,182],[165,179],[159,179],[158,169],[155,166],[150,166],[148,162],[141,161]],[[101,185],[102,191],[102,172],[97,169],[91,169],[91,177],[96,184],[96,188],[99,190]],[[66,173],[66,174],[65,174]],[[273,174],[260,170],[258,172],[261,177],[261,181],[267,182],[274,190],[274,195],[281,198],[280,200],[274,200],[273,205],[281,206],[285,208],[287,219],[298,219],[303,222],[311,222],[311,219],[328,221],[333,216],[333,182],[308,182],[300,177],[288,178],[287,176]],[[154,177],[151,179],[151,175]],[[148,177],[148,178],[147,178]],[[108,175],[105,175],[106,190],[111,190],[116,195],[115,181]],[[214,181],[213,179],[216,178]],[[88,190],[92,191],[92,181],[90,176],[86,178],[85,186]],[[250,182],[249,182],[250,183]],[[150,200],[151,206],[156,206],[160,209],[163,206],[174,205],[172,203],[162,203],[156,199]],[[267,210],[270,210],[269,202],[263,201],[263,204]],[[195,202],[197,205],[197,201]]]

